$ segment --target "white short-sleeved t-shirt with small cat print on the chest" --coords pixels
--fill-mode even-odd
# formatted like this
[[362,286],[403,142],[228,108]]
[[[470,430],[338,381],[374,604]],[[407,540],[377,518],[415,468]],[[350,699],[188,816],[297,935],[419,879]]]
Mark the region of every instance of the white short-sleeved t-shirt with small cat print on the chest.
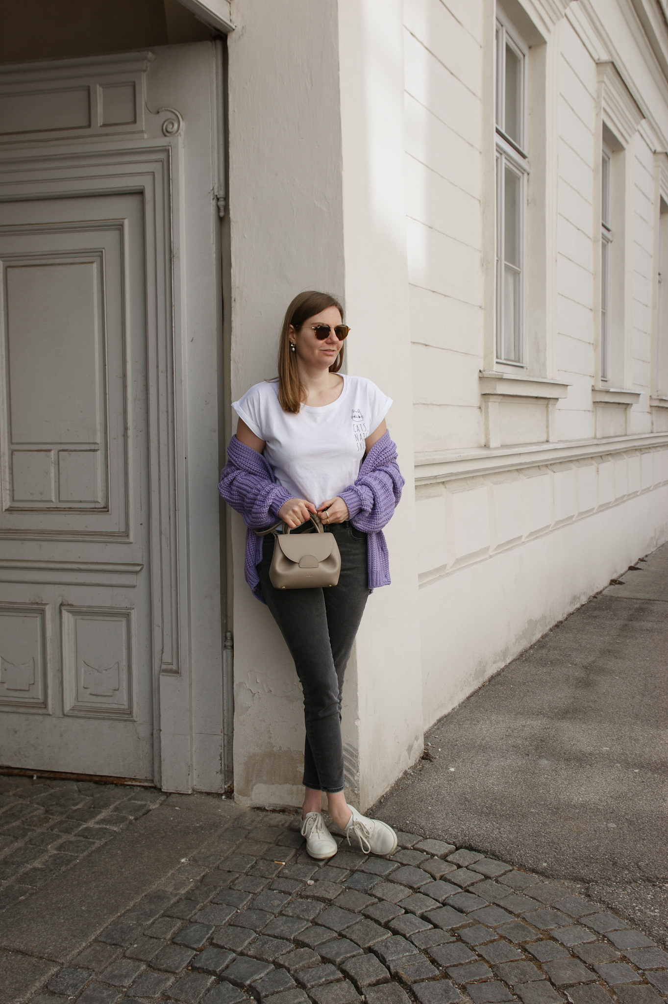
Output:
[[363,376],[343,376],[336,401],[302,405],[294,415],[278,400],[278,381],[256,384],[233,408],[267,444],[265,458],[294,498],[319,506],[339,495],[359,474],[365,439],[387,415],[392,399]]

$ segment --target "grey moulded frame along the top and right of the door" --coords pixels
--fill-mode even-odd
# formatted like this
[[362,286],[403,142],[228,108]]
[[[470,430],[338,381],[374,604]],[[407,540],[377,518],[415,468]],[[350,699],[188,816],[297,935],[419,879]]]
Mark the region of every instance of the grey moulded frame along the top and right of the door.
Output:
[[[71,73],[70,64],[64,72]],[[90,60],[82,62],[89,63]],[[148,60],[144,60],[147,67]],[[53,77],[56,67],[52,67]],[[13,82],[14,88],[19,80]],[[166,135],[165,135],[166,134]],[[54,143],[0,141],[0,202],[72,198],[77,195],[140,193],[144,207],[147,432],[149,457],[149,574],[152,622],[153,737],[155,783],[160,783],[160,676],[180,677],[188,666],[186,468],[182,353],[181,115],[144,111],[136,139],[126,134],[104,144],[78,138]],[[127,267],[127,264],[125,264]],[[15,562],[11,562],[15,564]],[[30,563],[30,580],[39,571]],[[65,569],[62,569],[65,571]],[[79,571],[68,568],[67,571]],[[5,574],[7,569],[4,569]],[[28,571],[26,568],[24,575]],[[43,569],[40,569],[43,574]],[[117,563],[89,569],[113,579],[136,573]],[[84,575],[84,578],[86,576]]]

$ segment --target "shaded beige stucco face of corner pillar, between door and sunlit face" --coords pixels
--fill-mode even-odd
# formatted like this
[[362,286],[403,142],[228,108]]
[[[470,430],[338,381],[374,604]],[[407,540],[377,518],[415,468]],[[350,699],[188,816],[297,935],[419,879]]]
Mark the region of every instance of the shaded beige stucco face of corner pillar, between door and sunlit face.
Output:
[[[314,0],[308,16],[293,13],[290,0],[238,0],[228,43],[233,401],[276,374],[296,293],[344,293],[337,9]],[[301,792],[301,689],[278,628],[244,580],[244,526],[231,518],[235,791],[292,804]]]

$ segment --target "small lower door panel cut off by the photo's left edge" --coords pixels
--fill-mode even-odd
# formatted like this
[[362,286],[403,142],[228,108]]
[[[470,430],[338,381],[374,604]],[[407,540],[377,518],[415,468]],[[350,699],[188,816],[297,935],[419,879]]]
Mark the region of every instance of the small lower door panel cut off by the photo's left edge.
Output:
[[46,711],[46,607],[0,604],[0,708]]

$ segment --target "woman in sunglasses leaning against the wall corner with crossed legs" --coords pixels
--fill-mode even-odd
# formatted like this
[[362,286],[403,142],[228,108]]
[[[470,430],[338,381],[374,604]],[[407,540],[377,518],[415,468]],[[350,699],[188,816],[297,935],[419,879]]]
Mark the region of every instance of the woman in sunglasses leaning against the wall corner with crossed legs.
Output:
[[[256,384],[232,406],[239,416],[221,495],[242,514],[246,579],[269,606],[304,693],[306,743],[302,834],[312,857],[338,845],[321,813],[322,792],[350,842],[377,854],[396,849],[394,830],[346,803],[341,743],[343,676],[374,586],[389,584],[382,527],[403,478],[385,416],[392,404],[370,381],[339,372],[349,328],[333,296],[307,291],[283,321],[278,380]],[[282,520],[291,529],[319,518],[341,553],[338,584],[276,589],[269,570],[275,539],[255,531]]]

